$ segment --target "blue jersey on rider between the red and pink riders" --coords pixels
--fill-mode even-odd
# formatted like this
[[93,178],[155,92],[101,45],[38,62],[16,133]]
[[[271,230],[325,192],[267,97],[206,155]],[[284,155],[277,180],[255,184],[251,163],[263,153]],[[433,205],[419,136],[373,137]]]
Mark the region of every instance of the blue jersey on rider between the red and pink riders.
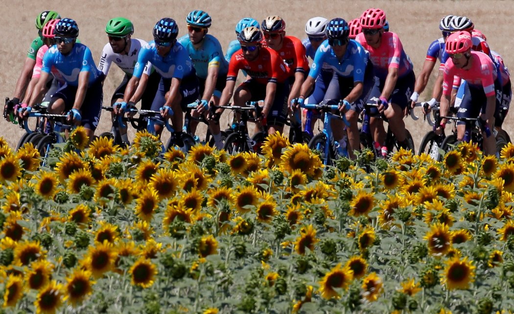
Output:
[[344,78],[353,77],[354,82],[364,82],[364,71],[368,63],[369,56],[366,50],[356,41],[350,40],[346,47],[346,52],[341,60],[336,57],[334,50],[325,40],[318,47],[314,62],[310,66],[309,76],[318,77],[324,63],[333,69],[338,76]]

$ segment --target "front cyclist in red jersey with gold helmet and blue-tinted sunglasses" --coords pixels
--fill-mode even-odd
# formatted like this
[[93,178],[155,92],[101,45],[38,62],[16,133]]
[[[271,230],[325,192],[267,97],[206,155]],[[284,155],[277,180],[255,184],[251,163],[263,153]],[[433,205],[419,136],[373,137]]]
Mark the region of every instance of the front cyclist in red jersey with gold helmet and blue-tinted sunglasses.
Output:
[[[219,103],[227,105],[232,96],[235,105],[264,99],[262,116],[267,117],[268,134],[276,131],[282,133],[287,114],[289,68],[276,51],[262,46],[262,38],[261,31],[256,27],[247,27],[237,35],[241,49],[230,59],[227,85]],[[240,70],[245,70],[249,79],[238,86],[234,93]],[[218,114],[221,111],[218,110]]]

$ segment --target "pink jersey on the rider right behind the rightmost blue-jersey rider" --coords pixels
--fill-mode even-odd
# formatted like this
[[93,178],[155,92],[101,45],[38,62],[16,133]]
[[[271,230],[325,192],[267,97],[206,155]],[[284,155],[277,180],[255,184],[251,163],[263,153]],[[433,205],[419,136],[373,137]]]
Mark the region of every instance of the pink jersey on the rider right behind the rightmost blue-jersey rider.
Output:
[[366,43],[364,33],[359,33],[355,40],[370,52],[370,60],[374,65],[375,75],[380,80],[387,78],[389,68],[398,68],[398,77],[400,78],[412,71],[412,62],[403,50],[396,33],[382,33],[380,47],[378,48],[373,48]]

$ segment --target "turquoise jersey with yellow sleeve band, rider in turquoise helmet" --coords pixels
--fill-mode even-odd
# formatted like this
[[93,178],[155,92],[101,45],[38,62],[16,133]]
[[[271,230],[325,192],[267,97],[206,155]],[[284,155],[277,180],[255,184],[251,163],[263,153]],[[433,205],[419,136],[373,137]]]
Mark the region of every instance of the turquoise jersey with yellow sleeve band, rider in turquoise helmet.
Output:
[[205,35],[201,47],[196,50],[193,43],[189,40],[189,35],[183,35],[178,42],[186,48],[189,58],[193,62],[196,76],[207,79],[207,70],[210,66],[218,66],[218,74],[225,75],[228,71],[228,62],[223,56],[222,45],[210,34]]

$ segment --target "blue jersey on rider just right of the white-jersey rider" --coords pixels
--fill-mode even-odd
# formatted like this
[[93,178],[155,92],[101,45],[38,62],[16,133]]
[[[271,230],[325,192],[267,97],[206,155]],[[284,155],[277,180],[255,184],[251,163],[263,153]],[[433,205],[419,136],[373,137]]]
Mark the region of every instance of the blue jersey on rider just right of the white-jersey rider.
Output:
[[176,78],[181,80],[191,75],[194,71],[193,63],[191,58],[189,58],[187,50],[178,42],[175,43],[170,52],[164,57],[159,56],[157,53],[154,41],[144,45],[137,57],[133,76],[140,79],[148,62],[152,63],[152,67],[164,79]]

